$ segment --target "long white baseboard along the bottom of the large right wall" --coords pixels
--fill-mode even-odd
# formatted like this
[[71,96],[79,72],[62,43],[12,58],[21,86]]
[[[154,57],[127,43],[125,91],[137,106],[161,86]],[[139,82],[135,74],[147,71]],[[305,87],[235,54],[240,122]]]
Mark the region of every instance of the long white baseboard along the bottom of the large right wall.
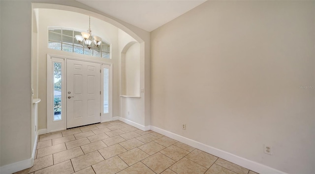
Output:
[[189,146],[192,146],[192,147],[194,147],[196,149],[200,149],[202,151],[205,151],[207,153],[210,153],[212,155],[215,155],[215,156],[218,156],[218,157],[220,157],[222,159],[225,159],[225,160],[227,160],[229,162],[232,162],[234,164],[237,164],[237,165],[240,165],[242,167],[245,167],[245,168],[247,168],[249,170],[252,170],[254,172],[257,172],[259,174],[286,174],[286,173],[284,173],[282,171],[279,171],[277,169],[273,169],[273,168],[265,166],[263,164],[259,164],[257,162],[254,162],[254,161],[242,158],[240,156],[236,156],[236,155],[234,155],[232,153],[229,153],[229,152],[226,152],[226,151],[223,151],[223,150],[220,150],[220,149],[216,149],[214,147],[205,145],[203,143],[191,140],[189,138],[183,137],[181,135],[169,132],[167,130],[164,130],[164,129],[161,129],[161,128],[158,128],[158,127],[155,127],[155,126],[152,126],[152,125],[150,126],[150,129],[155,131],[155,132],[158,132],[158,133],[160,133],[162,135],[165,135],[167,137],[170,137],[170,138],[173,138],[173,139],[175,139],[177,141],[185,143],[185,144],[187,144]]

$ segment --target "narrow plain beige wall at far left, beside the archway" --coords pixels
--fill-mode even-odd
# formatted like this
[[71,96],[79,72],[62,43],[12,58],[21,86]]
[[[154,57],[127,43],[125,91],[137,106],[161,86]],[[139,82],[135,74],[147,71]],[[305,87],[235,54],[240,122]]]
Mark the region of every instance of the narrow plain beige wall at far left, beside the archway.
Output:
[[0,8],[0,35],[5,40],[0,45],[0,161],[4,166],[31,158],[32,5],[1,0]]

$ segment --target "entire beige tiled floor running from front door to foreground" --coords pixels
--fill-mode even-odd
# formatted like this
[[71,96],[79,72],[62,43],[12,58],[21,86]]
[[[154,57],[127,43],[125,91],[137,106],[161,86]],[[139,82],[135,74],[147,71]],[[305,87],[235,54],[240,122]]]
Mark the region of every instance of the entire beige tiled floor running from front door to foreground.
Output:
[[120,121],[40,135],[32,168],[16,174],[256,174]]

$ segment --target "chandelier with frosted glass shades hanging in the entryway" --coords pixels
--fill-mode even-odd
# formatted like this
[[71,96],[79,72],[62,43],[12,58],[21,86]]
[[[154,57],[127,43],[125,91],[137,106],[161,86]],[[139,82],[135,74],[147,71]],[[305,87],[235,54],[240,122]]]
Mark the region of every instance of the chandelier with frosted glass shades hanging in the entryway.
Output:
[[80,35],[75,35],[76,40],[79,44],[81,44],[83,47],[90,49],[95,49],[100,46],[102,43],[102,39],[98,36],[92,36],[92,30],[91,30],[91,16],[89,16],[89,29],[88,32],[81,32]]

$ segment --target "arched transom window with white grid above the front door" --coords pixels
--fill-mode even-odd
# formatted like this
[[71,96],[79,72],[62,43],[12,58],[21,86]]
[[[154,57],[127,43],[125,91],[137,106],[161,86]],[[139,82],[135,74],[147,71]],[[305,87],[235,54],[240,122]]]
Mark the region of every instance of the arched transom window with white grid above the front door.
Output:
[[89,50],[77,42],[75,35],[81,35],[81,32],[63,28],[48,29],[48,48],[110,59],[110,44],[102,41],[98,48]]

